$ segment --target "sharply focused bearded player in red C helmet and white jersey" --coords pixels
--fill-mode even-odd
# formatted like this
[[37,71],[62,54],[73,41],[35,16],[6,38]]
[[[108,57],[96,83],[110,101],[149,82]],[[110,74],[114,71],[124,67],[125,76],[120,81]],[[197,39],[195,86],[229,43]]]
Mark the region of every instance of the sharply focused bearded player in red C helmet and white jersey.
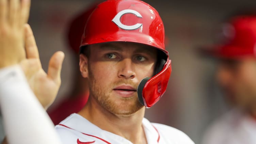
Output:
[[63,144],[193,144],[183,132],[143,118],[166,90],[171,60],[158,12],[139,0],[107,0],[87,20],[80,71],[85,107],[56,130]]

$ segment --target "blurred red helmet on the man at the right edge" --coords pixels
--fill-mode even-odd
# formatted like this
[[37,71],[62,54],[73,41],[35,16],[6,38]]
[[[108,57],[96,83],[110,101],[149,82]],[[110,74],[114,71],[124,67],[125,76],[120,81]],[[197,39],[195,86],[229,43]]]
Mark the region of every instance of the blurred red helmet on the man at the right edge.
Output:
[[256,15],[240,15],[230,19],[223,27],[225,44],[214,46],[209,54],[228,59],[256,57]]

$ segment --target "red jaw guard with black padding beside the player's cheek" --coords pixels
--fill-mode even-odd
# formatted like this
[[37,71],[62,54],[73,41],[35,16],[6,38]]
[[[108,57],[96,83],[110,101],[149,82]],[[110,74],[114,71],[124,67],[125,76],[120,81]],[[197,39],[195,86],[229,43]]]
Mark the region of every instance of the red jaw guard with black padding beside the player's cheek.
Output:
[[153,106],[164,94],[171,76],[171,60],[168,60],[163,69],[152,78],[144,78],[138,86],[138,98],[146,108]]

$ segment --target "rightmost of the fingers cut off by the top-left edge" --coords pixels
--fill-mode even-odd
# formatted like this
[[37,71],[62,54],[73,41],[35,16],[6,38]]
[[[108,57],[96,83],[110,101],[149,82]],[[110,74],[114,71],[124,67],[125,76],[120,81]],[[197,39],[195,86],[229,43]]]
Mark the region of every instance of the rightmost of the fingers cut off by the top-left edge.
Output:
[[28,22],[29,11],[30,11],[30,0],[21,0],[21,11],[20,11],[20,24]]

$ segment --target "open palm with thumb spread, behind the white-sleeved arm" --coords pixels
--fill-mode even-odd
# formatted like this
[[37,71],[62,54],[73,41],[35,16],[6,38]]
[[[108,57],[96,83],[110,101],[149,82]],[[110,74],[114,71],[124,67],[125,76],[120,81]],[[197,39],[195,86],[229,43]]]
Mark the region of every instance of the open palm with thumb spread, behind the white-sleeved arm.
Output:
[[47,109],[59,91],[64,53],[58,51],[52,55],[46,74],[41,66],[35,38],[28,24],[25,25],[25,48],[27,58],[21,61],[20,66],[34,94],[43,107]]

